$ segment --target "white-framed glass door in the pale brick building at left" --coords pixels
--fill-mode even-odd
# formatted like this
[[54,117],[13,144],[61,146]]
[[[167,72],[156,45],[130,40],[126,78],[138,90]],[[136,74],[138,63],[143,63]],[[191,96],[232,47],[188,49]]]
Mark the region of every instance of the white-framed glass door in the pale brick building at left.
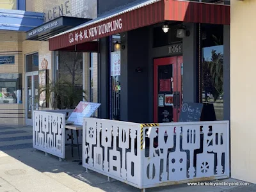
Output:
[[33,111],[38,110],[38,72],[26,73],[26,124],[33,125]]

